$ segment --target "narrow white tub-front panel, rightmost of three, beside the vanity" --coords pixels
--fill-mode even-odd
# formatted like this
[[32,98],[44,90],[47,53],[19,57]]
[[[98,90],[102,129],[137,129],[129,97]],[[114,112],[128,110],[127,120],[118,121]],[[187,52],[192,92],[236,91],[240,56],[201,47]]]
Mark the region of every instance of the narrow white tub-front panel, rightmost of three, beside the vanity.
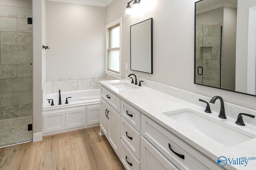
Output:
[[87,125],[100,123],[100,106],[87,107]]

